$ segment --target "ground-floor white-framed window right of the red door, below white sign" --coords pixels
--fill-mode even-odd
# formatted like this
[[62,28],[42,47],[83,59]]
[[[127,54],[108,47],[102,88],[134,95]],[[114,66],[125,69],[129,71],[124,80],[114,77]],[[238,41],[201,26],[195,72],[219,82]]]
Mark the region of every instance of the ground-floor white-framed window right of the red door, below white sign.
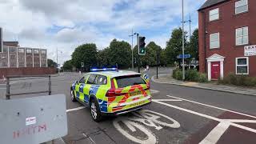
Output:
[[249,74],[249,58],[236,58],[236,74]]

